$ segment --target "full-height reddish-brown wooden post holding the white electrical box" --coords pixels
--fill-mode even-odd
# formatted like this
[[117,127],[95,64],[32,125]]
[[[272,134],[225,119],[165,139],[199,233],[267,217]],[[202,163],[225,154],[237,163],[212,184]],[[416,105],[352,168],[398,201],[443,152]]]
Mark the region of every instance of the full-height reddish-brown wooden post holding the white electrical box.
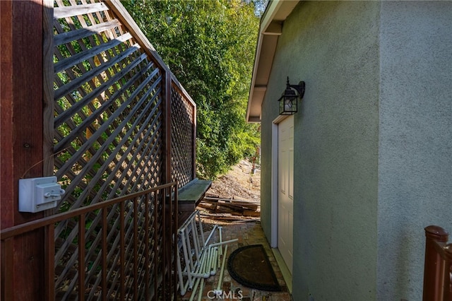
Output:
[[[4,230],[44,216],[18,211],[18,180],[43,175],[43,0],[0,1],[0,7],[0,225]],[[13,254],[2,252],[1,259],[13,268],[1,273],[1,297],[47,300],[42,278],[44,231],[15,237],[8,249]]]

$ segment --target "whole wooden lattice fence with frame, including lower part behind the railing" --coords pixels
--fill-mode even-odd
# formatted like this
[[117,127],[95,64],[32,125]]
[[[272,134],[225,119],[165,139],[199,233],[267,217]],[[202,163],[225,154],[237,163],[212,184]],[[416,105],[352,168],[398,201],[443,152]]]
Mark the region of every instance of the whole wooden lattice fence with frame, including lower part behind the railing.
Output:
[[[44,165],[66,190],[54,213],[194,179],[196,105],[125,8],[119,1],[100,0],[55,0],[47,6],[44,40],[53,49],[47,55],[53,66],[44,77],[53,78],[48,83],[53,89],[44,91],[44,116],[49,116],[44,119]],[[78,218],[59,221],[54,228],[57,300],[140,299],[148,283],[143,281],[146,267],[140,267],[137,278],[137,262],[150,256],[156,264],[165,256],[165,215],[172,214],[165,212],[165,200],[163,194],[152,194],[149,208],[132,202],[113,206],[107,216],[90,211],[84,226]],[[123,219],[125,252],[119,244]],[[155,239],[146,240],[144,227]],[[82,228],[83,263],[77,247]],[[126,266],[120,274],[121,252]],[[85,265],[82,278],[80,264]],[[169,267],[159,268],[160,277],[168,272]],[[109,279],[103,290],[102,278]],[[156,281],[159,275],[151,278]],[[118,282],[129,283],[122,294],[116,291]]]

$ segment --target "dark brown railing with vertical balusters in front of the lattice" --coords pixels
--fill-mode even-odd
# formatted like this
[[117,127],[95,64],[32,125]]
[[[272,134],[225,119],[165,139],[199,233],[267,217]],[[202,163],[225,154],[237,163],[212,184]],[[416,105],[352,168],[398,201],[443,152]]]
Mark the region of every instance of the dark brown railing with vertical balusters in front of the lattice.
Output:
[[[172,197],[168,197],[172,196]],[[169,201],[174,200],[174,201]],[[100,217],[95,240],[88,216]],[[112,220],[110,216],[119,216]],[[66,273],[57,273],[55,224],[72,220],[76,224]],[[171,300],[177,295],[177,184],[169,183],[127,196],[59,213],[1,231],[2,300],[14,300],[14,285],[8,277],[13,265],[14,238],[44,229],[47,250],[44,259],[43,300]],[[172,273],[174,271],[174,273]],[[59,276],[68,276],[58,281]],[[64,283],[57,285],[56,283]],[[158,299],[160,298],[160,299]],[[28,300],[35,300],[29,296]]]

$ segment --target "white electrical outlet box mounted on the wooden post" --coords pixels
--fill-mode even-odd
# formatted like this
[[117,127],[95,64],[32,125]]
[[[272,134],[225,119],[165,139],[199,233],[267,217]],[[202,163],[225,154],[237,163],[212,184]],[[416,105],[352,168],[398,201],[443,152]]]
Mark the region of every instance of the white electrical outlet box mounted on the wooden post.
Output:
[[57,177],[19,179],[19,211],[35,213],[55,208],[63,194]]

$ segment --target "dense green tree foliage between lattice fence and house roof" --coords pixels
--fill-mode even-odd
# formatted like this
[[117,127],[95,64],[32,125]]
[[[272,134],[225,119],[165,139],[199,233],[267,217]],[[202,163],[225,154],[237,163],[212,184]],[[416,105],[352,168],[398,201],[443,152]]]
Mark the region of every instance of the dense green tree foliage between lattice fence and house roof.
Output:
[[198,177],[213,179],[256,155],[258,127],[244,118],[259,24],[254,1],[123,4],[196,102]]

